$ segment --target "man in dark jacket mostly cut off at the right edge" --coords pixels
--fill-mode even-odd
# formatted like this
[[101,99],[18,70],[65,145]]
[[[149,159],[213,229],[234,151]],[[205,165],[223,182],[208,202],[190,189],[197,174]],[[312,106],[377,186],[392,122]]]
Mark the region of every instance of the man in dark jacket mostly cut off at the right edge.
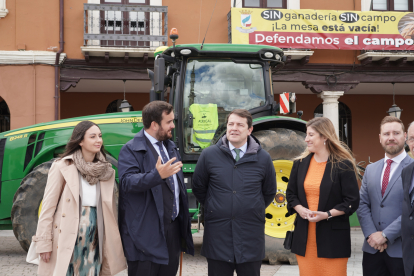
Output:
[[[407,130],[407,145],[414,154],[414,122]],[[414,275],[414,163],[401,173],[404,188],[404,202],[401,215],[401,237],[405,275]]]

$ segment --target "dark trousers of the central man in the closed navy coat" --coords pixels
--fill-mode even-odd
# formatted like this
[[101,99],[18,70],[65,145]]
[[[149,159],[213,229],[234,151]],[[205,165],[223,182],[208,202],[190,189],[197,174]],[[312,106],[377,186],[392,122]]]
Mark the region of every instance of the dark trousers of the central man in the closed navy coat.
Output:
[[236,270],[237,276],[260,276],[262,261],[249,263],[230,263],[207,259],[208,276],[233,276]]

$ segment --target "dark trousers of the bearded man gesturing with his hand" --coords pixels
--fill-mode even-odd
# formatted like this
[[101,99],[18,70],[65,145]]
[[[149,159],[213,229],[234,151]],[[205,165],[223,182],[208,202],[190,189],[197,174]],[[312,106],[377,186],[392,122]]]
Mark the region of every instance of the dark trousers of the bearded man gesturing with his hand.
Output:
[[176,276],[180,264],[180,223],[164,221],[164,233],[168,248],[168,265],[150,261],[128,261],[128,276]]

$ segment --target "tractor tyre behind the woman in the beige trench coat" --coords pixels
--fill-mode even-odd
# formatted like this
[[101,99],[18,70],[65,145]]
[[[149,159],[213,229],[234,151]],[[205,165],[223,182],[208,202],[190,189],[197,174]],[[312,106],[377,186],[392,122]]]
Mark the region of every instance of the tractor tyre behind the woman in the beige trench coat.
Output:
[[[118,167],[118,161],[106,155],[107,160],[113,167]],[[39,206],[43,200],[46,182],[50,167],[54,159],[35,167],[20,183],[13,198],[11,220],[13,233],[19,241],[20,246],[28,251],[32,237],[36,235],[37,222],[39,220]],[[119,184],[115,181],[114,194],[118,210]]]

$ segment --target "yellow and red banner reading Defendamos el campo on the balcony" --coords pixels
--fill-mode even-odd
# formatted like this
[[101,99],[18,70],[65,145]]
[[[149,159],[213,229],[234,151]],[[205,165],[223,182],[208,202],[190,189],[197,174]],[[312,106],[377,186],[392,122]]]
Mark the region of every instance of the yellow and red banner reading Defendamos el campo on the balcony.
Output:
[[414,50],[414,13],[232,8],[233,44]]

